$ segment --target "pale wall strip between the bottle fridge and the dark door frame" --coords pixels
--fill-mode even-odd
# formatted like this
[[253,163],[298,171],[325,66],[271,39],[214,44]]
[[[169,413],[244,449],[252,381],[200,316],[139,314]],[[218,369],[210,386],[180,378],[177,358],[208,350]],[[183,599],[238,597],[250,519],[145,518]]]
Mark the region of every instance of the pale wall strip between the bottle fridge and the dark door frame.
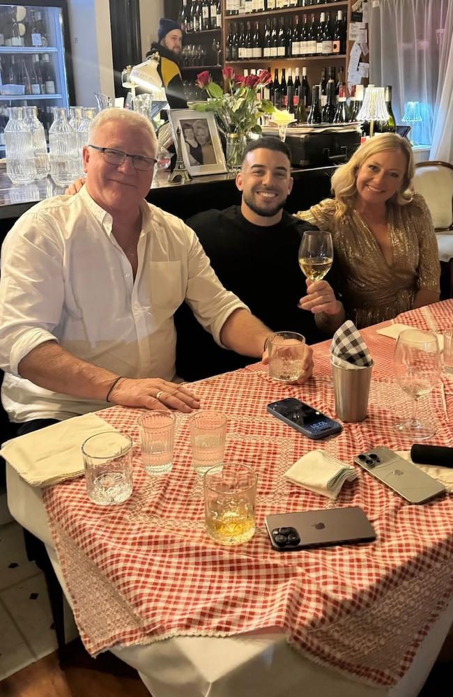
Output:
[[114,96],[109,0],[68,0],[68,12],[75,101],[95,106],[95,92]]

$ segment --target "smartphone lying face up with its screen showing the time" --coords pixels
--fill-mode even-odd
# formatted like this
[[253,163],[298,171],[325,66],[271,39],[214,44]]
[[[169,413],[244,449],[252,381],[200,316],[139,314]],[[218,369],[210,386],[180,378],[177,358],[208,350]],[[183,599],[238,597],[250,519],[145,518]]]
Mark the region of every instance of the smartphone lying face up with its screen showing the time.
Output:
[[314,441],[339,434],[342,429],[338,421],[294,397],[272,401],[266,409],[272,416],[276,416],[280,421],[284,421],[285,424]]

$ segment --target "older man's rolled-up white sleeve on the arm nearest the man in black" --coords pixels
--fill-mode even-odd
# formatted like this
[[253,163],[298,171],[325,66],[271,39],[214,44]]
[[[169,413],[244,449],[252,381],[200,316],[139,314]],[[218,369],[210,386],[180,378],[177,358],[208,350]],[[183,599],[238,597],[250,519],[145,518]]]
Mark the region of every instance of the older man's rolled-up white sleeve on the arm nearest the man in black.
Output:
[[185,300],[199,323],[213,335],[219,346],[223,346],[220,330],[230,314],[236,309],[249,311],[249,308],[238,296],[222,286],[197,235],[190,227],[185,228],[190,240]]

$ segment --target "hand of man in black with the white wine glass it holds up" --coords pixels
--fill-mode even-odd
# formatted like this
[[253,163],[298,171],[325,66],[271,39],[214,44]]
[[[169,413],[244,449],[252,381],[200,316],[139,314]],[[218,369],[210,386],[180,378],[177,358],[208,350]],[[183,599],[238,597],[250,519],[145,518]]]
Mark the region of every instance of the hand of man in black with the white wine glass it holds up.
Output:
[[306,230],[299,247],[299,266],[307,276],[307,295],[300,298],[299,307],[314,314],[338,314],[341,303],[335,298],[332,286],[323,281],[333,261],[330,232]]

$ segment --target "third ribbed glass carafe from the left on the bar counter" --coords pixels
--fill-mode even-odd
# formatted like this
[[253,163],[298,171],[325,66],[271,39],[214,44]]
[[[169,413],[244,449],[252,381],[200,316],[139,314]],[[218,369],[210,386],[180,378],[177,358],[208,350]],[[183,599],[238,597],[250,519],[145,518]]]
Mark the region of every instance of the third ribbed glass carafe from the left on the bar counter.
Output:
[[49,128],[50,174],[59,186],[69,186],[79,176],[77,136],[68,123],[66,109],[54,107],[54,123]]

